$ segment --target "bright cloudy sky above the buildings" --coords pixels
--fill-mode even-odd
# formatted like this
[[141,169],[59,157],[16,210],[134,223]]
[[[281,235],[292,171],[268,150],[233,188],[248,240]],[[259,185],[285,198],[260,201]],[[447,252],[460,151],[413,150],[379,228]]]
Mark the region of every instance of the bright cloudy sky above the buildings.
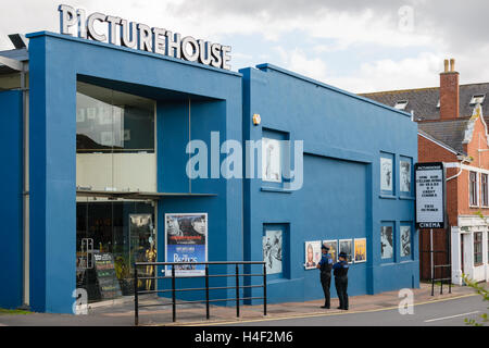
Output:
[[461,84],[489,82],[487,0],[60,1],[2,7],[0,50],[9,34],[59,33],[64,3],[231,46],[233,71],[271,63],[356,94],[438,87],[450,58]]

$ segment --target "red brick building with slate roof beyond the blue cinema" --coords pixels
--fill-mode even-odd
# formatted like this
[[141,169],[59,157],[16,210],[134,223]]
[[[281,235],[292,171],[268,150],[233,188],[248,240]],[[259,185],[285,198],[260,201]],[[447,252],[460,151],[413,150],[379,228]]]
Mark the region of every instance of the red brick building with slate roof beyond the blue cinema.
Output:
[[[418,161],[443,162],[447,169],[448,228],[419,233],[421,277],[431,265],[452,265],[453,283],[462,273],[489,281],[489,83],[459,85],[454,60],[444,61],[440,87],[362,95],[411,111],[418,123]],[[441,269],[435,276],[440,277]]]

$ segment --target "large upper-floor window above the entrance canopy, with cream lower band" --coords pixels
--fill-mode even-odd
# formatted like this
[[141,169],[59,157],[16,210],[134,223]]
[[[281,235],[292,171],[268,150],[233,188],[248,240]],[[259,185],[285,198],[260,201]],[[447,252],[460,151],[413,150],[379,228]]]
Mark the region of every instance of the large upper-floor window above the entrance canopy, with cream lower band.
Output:
[[76,186],[156,191],[155,103],[86,83],[76,94]]

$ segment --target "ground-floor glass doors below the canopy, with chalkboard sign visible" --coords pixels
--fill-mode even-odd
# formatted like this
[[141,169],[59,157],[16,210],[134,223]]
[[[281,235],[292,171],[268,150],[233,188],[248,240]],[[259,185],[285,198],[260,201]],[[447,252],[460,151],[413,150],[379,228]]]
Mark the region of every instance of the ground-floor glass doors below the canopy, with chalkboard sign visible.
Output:
[[[76,279],[88,301],[134,295],[134,262],[156,260],[154,203],[146,201],[77,199]],[[151,266],[141,276],[154,275]],[[141,290],[154,282],[140,281]]]

